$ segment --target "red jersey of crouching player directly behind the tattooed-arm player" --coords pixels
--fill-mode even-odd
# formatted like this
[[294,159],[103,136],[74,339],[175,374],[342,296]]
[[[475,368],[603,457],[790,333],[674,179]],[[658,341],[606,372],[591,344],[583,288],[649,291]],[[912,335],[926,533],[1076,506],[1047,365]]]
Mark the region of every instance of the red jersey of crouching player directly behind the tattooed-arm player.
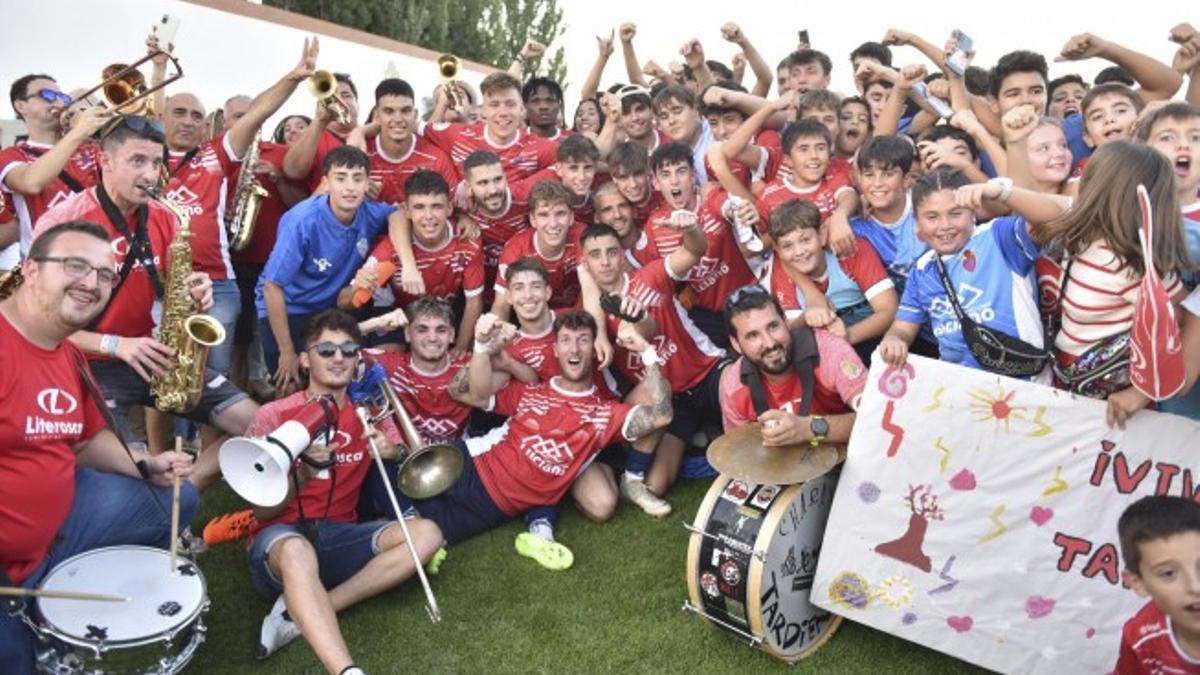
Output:
[[[672,277],[666,261],[658,259],[642,269],[626,271],[619,294],[637,298],[658,323],[659,334],[652,344],[659,353],[664,377],[671,382],[671,390],[678,394],[700,384],[725,351],[713,345],[691,322],[674,295],[676,281],[683,280]],[[612,315],[606,315],[605,319],[608,335],[616,335],[620,319]],[[641,354],[617,347],[612,363],[630,382],[641,382],[646,377]]]

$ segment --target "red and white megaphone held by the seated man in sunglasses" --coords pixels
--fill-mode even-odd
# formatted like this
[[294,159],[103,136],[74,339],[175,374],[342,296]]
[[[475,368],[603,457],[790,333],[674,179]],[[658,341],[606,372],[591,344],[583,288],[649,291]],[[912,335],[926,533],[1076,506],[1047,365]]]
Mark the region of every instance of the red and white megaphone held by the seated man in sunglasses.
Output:
[[[296,460],[304,459],[304,452],[318,437],[334,437],[337,414],[332,398],[320,396],[301,406],[264,438],[229,438],[218,455],[221,473],[233,491],[247,502],[277,506],[288,496],[288,476]],[[328,476],[325,471],[322,473]],[[326,476],[318,474],[318,478]]]

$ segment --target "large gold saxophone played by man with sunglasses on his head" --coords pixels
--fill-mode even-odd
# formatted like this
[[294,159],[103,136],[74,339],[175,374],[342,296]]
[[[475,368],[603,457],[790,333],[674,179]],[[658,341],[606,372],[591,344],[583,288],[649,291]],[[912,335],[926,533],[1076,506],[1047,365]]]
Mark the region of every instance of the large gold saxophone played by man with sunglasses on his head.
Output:
[[182,413],[196,407],[204,390],[209,350],[224,342],[224,327],[215,318],[196,313],[196,303],[185,279],[192,273],[191,216],[158,189],[146,190],[179,219],[179,229],[168,247],[163,283],[162,322],[158,341],[175,350],[174,363],[150,383],[155,407]]

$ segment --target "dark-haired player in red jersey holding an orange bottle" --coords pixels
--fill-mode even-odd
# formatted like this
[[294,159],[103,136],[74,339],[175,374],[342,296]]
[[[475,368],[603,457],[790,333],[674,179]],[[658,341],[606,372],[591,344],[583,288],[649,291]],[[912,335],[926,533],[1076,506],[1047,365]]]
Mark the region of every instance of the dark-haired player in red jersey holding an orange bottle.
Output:
[[342,309],[358,306],[355,293],[360,289],[373,293],[383,281],[378,277],[379,263],[389,262],[396,270],[389,281],[398,307],[407,307],[421,297],[436,298],[452,306],[462,293],[463,310],[455,350],[464,353],[470,347],[475,321],[484,312],[482,249],[479,241],[458,238],[450,228],[446,220],[450,215],[450,186],[440,174],[427,169],[418,171],[404,184],[404,191],[408,193],[404,211],[412,232],[408,246],[412,253],[408,255],[413,257],[413,262],[409,264],[419,270],[425,293],[415,295],[404,291],[402,280],[408,265],[402,261],[406,253],[398,252],[391,239],[385,237],[376,245],[350,285],[338,294],[337,304]]

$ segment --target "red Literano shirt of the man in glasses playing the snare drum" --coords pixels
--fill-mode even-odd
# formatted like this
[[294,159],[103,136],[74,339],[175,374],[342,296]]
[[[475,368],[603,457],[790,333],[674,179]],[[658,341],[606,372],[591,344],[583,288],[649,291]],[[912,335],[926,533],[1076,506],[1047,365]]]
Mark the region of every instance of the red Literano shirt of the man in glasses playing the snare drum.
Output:
[[79,348],[34,345],[0,315],[0,565],[20,584],[74,501],[74,446],[104,429],[79,376]]

